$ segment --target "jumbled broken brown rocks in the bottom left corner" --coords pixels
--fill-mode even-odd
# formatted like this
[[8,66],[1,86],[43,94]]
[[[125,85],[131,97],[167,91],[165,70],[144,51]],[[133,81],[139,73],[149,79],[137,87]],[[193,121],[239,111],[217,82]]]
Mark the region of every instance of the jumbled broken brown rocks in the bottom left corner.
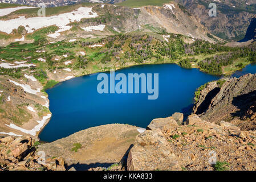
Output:
[[63,158],[44,158],[36,153],[39,142],[30,137],[0,139],[0,171],[66,171]]

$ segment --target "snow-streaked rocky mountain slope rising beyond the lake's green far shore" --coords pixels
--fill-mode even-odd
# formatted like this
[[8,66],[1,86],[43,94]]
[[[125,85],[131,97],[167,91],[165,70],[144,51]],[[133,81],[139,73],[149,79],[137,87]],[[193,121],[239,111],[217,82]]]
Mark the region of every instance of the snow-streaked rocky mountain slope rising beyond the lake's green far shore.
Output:
[[[177,3],[174,2],[166,3],[163,6],[144,6],[136,9],[115,5],[75,5],[68,6],[68,9],[64,7],[56,10],[54,10],[54,8],[46,9],[46,15],[52,16],[52,18],[56,18],[56,15],[63,16],[64,14],[61,13],[70,13],[72,10],[75,12],[79,9],[79,7],[84,6],[91,7],[91,9],[83,9],[83,12],[90,10],[91,13],[84,15],[82,18],[78,18],[75,21],[70,20],[70,16],[72,15],[66,14],[65,16],[67,17],[64,17],[64,22],[69,23],[65,25],[71,27],[67,28],[67,30],[61,30],[64,24],[56,24],[56,26],[59,27],[59,30],[53,31],[52,33],[62,33],[56,35],[51,34],[48,35],[47,38],[51,42],[56,42],[57,40],[64,40],[70,38],[98,38],[105,35],[119,34],[120,32],[161,32],[165,30],[166,32],[189,36],[193,39],[208,40],[209,42],[216,42],[217,40],[216,38],[209,37],[210,32],[208,32],[200,22],[198,22],[198,19],[196,19],[193,15],[189,14],[187,11],[182,9],[180,6],[178,6]],[[27,14],[24,14],[24,11],[26,10],[17,10],[11,12],[8,15],[2,16],[1,19],[3,20],[3,22],[0,21],[0,23],[9,23],[10,21],[14,21],[15,18],[19,18],[19,16],[21,15],[25,15],[26,18],[36,17],[38,9],[32,10],[30,13]],[[50,12],[51,15],[48,15],[48,12]],[[80,15],[77,14],[77,16]],[[56,19],[56,21],[59,21],[58,18]],[[27,26],[24,26],[24,24],[27,24]],[[29,39],[31,39],[31,32],[34,32],[35,30],[40,30],[40,28],[43,27],[50,27],[54,25],[55,23],[48,24],[47,22],[42,22],[42,26],[38,27],[38,25],[33,24],[32,19],[21,19],[21,23],[18,26],[13,27],[12,31],[6,30],[6,28],[0,29],[0,32],[2,31],[1,34],[4,35],[2,45],[13,42],[14,39],[12,40],[11,38],[14,38],[15,36],[17,36],[17,38],[21,38],[21,42],[25,43],[29,41]],[[11,24],[9,26],[11,26]],[[18,31],[18,28],[22,29],[22,27],[24,27],[24,30]]]

